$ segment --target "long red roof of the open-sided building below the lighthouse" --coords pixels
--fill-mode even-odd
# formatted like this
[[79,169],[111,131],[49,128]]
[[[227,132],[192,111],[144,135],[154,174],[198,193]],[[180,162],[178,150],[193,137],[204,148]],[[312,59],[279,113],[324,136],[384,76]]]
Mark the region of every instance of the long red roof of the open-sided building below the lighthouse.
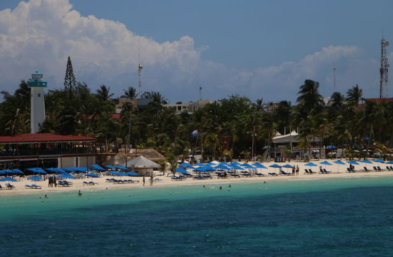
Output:
[[0,136],[0,143],[43,143],[43,142],[82,142],[96,141],[92,137],[60,135],[52,133],[20,134],[16,136]]

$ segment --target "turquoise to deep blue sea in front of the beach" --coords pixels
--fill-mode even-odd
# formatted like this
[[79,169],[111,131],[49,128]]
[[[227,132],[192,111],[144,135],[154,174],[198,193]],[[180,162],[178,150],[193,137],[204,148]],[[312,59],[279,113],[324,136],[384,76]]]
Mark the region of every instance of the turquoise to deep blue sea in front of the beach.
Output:
[[[4,256],[391,256],[393,178],[2,196]],[[222,186],[223,189],[219,190]],[[42,198],[40,198],[42,197]]]

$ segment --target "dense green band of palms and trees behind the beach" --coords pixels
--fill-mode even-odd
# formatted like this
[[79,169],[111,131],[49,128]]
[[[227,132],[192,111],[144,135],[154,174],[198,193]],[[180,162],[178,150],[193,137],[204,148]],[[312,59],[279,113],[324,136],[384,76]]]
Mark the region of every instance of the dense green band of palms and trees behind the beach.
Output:
[[[136,97],[133,87],[123,89],[129,99]],[[1,92],[0,134],[15,135],[30,131],[30,89],[22,81],[14,94]],[[134,108],[123,105],[120,118],[113,116],[118,99],[110,93],[110,87],[101,85],[95,93],[84,82],[77,82],[68,59],[64,88],[48,90],[45,95],[47,119],[40,133],[60,133],[90,136],[99,144],[130,143],[138,148],[154,148],[165,156],[185,157],[189,149],[200,148],[199,132],[203,140],[204,155],[226,154],[231,157],[248,157],[260,154],[278,131],[300,132],[299,148],[310,147],[313,137],[320,138],[321,145],[347,146],[349,151],[368,150],[371,143],[388,152],[393,142],[393,102],[376,103],[363,100],[358,85],[347,91],[332,94],[325,106],[319,93],[319,83],[306,80],[300,86],[296,105],[280,101],[274,111],[268,112],[271,103],[263,99],[255,102],[249,98],[232,95],[193,114],[175,115],[175,110],[162,106],[166,99],[156,91],[145,94],[152,98],[146,106]],[[106,147],[107,149],[107,147]],[[353,152],[352,152],[353,153]]]

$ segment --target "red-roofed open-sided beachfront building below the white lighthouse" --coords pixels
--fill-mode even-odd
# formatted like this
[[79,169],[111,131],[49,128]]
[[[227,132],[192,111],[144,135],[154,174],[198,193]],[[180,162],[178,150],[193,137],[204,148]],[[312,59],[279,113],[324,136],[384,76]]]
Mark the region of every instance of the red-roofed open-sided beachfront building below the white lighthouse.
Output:
[[51,133],[0,136],[0,170],[89,167],[96,163],[96,139]]

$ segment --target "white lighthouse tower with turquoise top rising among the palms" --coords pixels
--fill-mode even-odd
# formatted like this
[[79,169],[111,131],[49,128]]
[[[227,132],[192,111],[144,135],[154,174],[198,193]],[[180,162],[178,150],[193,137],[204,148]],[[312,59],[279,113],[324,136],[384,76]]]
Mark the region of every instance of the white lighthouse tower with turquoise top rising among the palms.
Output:
[[42,73],[38,71],[31,75],[28,82],[28,87],[31,89],[30,130],[32,134],[38,133],[45,121],[44,88],[47,84]]

